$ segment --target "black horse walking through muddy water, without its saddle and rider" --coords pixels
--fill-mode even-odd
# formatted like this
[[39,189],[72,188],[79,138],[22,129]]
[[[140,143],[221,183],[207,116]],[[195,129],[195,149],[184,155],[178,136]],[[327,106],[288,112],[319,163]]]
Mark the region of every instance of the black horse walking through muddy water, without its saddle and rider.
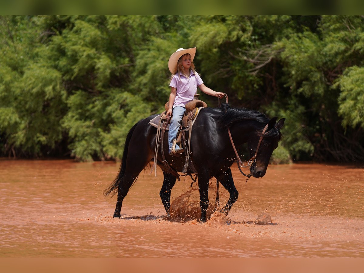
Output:
[[[157,115],[140,120],[128,132],[122,163],[115,180],[104,191],[104,195],[118,193],[116,208],[113,217],[120,217],[123,199],[127,195],[132,183],[138,178],[139,173],[150,163],[156,163],[163,171],[163,185],[159,193],[167,214],[170,210],[171,190],[176,182],[176,177],[169,173],[162,163],[162,154],[159,150],[157,159],[154,158],[157,128],[149,124]],[[248,150],[252,157],[256,154],[256,161],[249,170],[253,177],[263,177],[268,167],[273,150],[278,147],[281,139],[280,129],[285,119],[277,117],[268,119],[264,114],[247,110],[245,108],[232,108],[222,104],[219,108],[202,108],[193,125],[191,133],[190,157],[197,171],[198,187],[200,194],[201,222],[206,221],[206,210],[209,205],[208,191],[209,180],[218,179],[229,192],[230,198],[221,211],[228,214],[238,198],[238,191],[234,185],[230,166],[236,159],[232,142],[230,142],[228,128],[230,128],[233,142],[236,146],[248,143]],[[268,124],[264,135],[263,129]],[[182,172],[185,157],[172,157],[168,155],[168,134],[165,134],[164,151],[166,160],[171,167]],[[258,142],[261,140],[256,153]],[[187,173],[194,173],[187,170]]]

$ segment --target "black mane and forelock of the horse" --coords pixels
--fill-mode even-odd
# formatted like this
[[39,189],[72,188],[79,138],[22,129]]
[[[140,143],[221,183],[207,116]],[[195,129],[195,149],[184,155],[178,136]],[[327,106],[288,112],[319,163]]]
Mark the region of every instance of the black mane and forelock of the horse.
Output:
[[[233,108],[230,107],[229,104],[223,103],[219,108],[222,115],[219,116],[218,123],[221,128],[229,128],[232,124],[244,120],[254,120],[262,124],[264,127],[269,123],[269,118],[262,114],[261,112],[249,110],[247,108]],[[261,130],[261,128],[259,128]],[[261,134],[261,132],[259,132]],[[278,130],[277,126],[274,126],[273,129],[269,130],[264,134],[265,138],[279,137],[279,140],[282,138],[282,134],[280,130]]]

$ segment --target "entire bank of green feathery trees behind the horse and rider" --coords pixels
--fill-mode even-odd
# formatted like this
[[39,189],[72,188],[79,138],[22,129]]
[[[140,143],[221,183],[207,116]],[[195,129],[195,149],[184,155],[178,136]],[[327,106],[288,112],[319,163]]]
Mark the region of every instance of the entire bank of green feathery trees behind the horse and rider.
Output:
[[[0,16],[0,155],[119,159],[163,110],[169,56],[286,118],[272,162],[364,160],[361,16]],[[201,94],[209,106],[214,98]]]

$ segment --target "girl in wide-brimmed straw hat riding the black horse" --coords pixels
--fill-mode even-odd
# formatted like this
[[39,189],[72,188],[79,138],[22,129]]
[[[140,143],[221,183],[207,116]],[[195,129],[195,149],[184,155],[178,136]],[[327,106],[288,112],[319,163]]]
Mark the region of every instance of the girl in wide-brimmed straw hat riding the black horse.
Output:
[[171,81],[169,86],[171,87],[171,94],[169,95],[169,109],[167,111],[167,117],[172,115],[172,120],[169,125],[168,133],[168,143],[169,143],[169,154],[181,154],[184,149],[176,146],[174,149],[173,142],[177,137],[177,132],[181,124],[183,114],[185,112],[185,105],[187,102],[193,100],[196,94],[197,87],[201,89],[202,92],[216,96],[218,98],[223,98],[224,93],[216,92],[206,87],[200,75],[195,70],[195,65],[193,63],[193,58],[196,54],[196,48],[183,49],[179,48],[174,52],[168,61],[169,71],[172,73]]

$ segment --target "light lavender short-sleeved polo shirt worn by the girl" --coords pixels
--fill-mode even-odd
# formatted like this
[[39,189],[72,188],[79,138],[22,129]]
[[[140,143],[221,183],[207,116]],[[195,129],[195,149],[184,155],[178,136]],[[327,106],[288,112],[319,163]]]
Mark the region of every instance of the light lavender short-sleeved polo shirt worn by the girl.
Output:
[[197,87],[203,83],[201,77],[190,71],[190,78],[188,79],[186,76],[181,74],[181,79],[178,75],[174,75],[170,87],[174,87],[177,89],[176,98],[174,99],[173,107],[175,106],[183,106],[185,107],[187,102],[193,100],[193,96],[196,94]]

